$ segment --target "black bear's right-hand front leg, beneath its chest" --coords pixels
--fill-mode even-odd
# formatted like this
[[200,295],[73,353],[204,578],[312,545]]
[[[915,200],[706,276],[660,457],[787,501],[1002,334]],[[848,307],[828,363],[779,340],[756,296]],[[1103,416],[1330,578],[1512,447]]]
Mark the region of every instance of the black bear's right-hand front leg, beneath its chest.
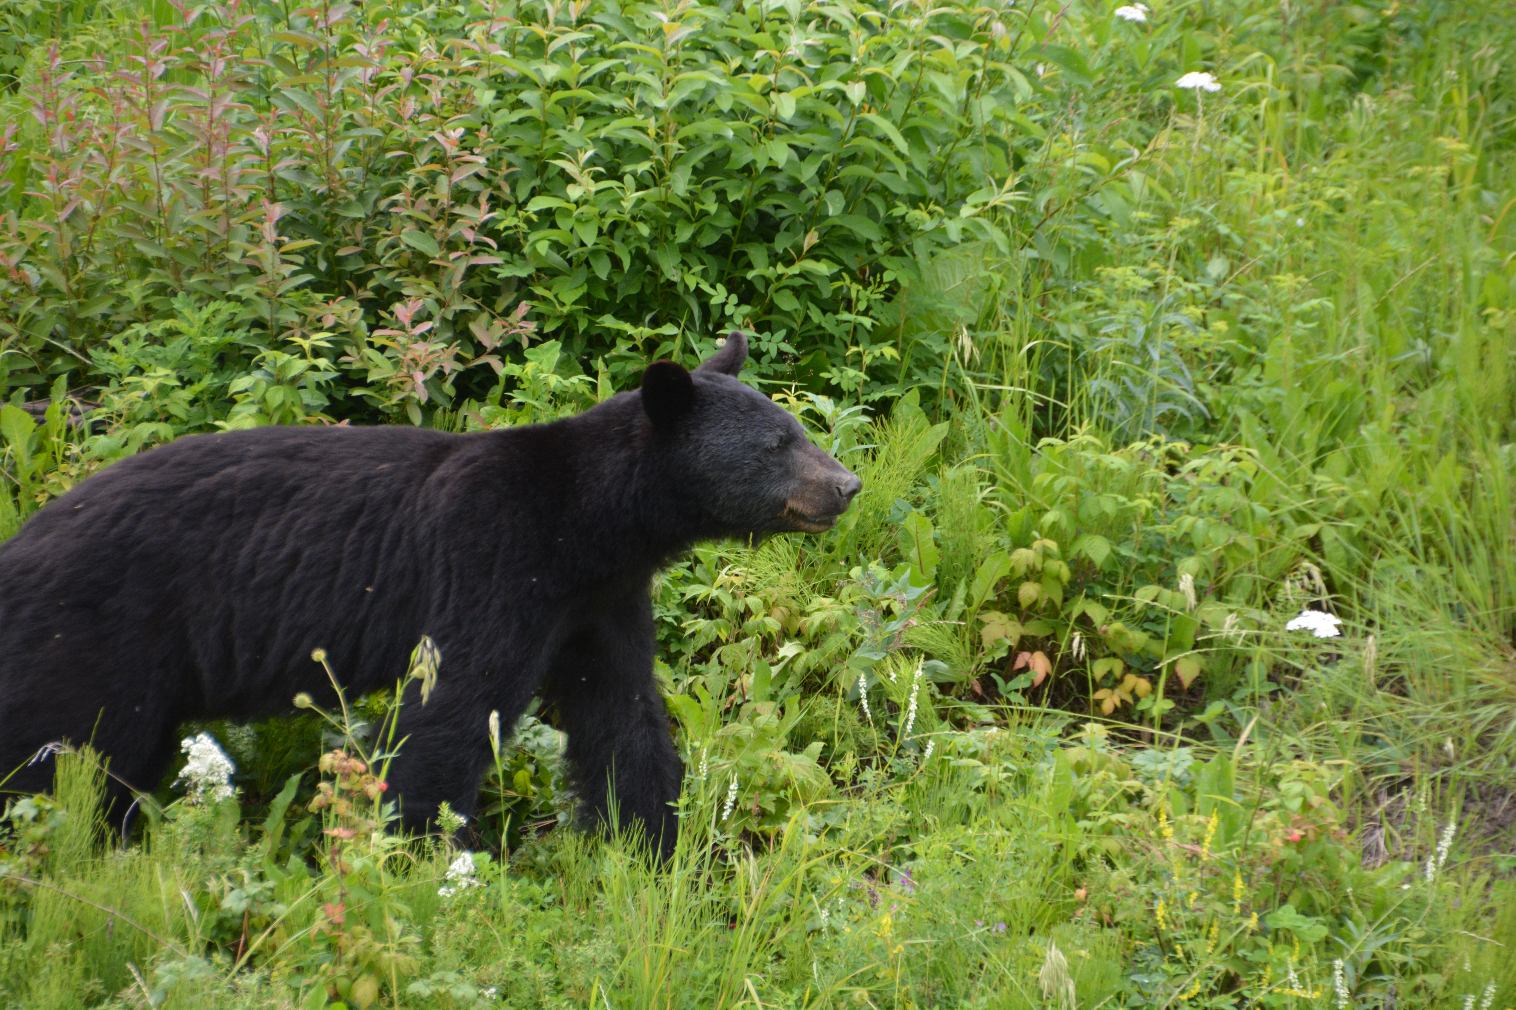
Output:
[[653,681],[655,628],[646,592],[590,609],[559,647],[544,695],[556,703],[568,734],[568,769],[585,809],[600,827],[638,830],[667,860],[679,837],[675,806],[684,763],[669,736],[669,716]]

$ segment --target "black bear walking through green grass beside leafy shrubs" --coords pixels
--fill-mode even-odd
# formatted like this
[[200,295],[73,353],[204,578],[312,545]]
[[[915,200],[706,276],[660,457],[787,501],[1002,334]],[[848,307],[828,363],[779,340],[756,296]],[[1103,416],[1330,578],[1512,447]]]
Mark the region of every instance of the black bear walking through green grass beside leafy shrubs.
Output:
[[449,435],[264,427],[126,459],[0,545],[0,778],[39,790],[53,740],[92,742],[152,789],[193,718],[393,684],[423,634],[431,700],[408,698],[391,766],[406,824],[471,813],[487,721],[541,692],[590,818],[667,854],[682,766],[653,681],[649,581],[696,541],[822,531],[861,482],[735,379],[732,333],[696,371],[573,418]]

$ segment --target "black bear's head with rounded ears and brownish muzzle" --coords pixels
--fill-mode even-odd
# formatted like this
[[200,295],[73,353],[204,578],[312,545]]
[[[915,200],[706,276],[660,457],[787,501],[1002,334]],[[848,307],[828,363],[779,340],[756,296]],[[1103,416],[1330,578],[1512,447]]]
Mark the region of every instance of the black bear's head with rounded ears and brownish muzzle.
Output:
[[863,482],[819,450],[790,413],[737,380],[747,338],[732,332],[693,373],[653,362],[643,410],[687,501],[719,536],[820,533]]

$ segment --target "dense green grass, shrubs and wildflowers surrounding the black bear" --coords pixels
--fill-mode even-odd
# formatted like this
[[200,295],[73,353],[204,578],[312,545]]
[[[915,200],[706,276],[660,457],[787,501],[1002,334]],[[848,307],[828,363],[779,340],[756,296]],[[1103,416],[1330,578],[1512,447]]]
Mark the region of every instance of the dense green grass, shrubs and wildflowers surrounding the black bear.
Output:
[[108,843],[82,751],[6,807],[0,1004],[1511,1005],[1511,51],[1510,0],[9,0],[0,536],[731,327],[866,492],[653,586],[662,875],[561,827],[552,712],[461,865],[374,831],[390,700],[190,727],[235,801],[196,757]]

